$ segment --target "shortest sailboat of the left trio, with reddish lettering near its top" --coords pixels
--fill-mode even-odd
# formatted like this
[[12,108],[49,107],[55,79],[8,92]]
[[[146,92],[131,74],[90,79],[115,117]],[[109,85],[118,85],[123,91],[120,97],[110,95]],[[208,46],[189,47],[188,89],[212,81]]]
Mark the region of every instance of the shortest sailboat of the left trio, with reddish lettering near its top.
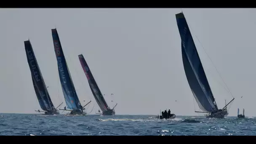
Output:
[[109,108],[109,106],[107,105],[107,102],[105,101],[104,97],[101,94],[101,91],[99,90],[99,87],[98,87],[96,81],[93,78],[91,70],[90,70],[88,64],[86,63],[86,61],[83,57],[83,54],[78,55],[78,58],[80,60],[80,64],[83,68],[85,76],[87,77],[89,86],[93,93],[93,96],[102,111],[102,115],[115,115],[115,107],[117,106],[117,104],[115,105],[115,107],[113,107],[113,109]]

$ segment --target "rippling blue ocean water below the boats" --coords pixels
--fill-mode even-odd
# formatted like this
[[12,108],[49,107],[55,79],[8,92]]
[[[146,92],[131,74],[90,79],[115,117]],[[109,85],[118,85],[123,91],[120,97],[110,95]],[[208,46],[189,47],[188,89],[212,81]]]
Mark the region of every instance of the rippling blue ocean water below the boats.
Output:
[[0,114],[0,135],[244,136],[256,135],[256,119],[177,116],[172,120],[157,120],[155,115]]

